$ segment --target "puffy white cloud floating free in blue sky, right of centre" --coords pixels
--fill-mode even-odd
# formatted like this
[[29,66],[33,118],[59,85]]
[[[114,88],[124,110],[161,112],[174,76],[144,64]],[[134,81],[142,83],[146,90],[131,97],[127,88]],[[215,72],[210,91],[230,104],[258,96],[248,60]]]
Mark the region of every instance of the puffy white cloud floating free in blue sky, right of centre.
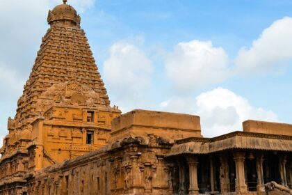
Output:
[[179,91],[214,84],[229,77],[229,59],[224,49],[211,41],[179,42],[165,56],[165,70]]

